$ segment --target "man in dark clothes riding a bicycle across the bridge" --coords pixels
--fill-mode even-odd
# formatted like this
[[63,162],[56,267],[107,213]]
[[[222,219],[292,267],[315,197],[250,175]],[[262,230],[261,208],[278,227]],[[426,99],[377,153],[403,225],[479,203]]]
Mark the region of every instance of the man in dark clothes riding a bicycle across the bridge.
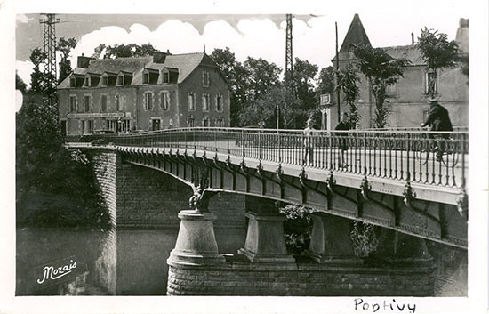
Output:
[[[429,112],[428,117],[425,122],[421,124],[421,127],[429,126],[429,131],[453,131],[452,122],[450,121],[450,116],[448,115],[448,110],[441,106],[437,99],[431,98],[429,101]],[[429,134],[429,139],[435,137],[446,140],[450,137],[449,134]],[[437,148],[437,161],[442,161],[442,156],[444,152],[444,142],[442,145],[437,145],[435,142],[435,147]]]

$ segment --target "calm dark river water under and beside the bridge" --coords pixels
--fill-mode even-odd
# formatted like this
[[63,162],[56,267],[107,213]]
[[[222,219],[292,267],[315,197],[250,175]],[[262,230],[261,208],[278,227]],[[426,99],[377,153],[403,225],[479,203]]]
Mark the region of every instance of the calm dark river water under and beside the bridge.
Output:
[[[215,229],[220,253],[244,246],[245,229]],[[165,295],[178,229],[17,229],[16,295]],[[467,254],[429,243],[436,296],[467,294]],[[43,266],[76,262],[78,272],[42,281]]]

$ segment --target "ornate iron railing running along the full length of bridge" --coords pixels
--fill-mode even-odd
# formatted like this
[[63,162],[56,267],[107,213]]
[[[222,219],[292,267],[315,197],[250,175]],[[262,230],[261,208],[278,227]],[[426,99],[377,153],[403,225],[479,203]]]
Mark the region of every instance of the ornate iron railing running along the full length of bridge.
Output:
[[384,129],[315,131],[304,135],[299,130],[194,127],[68,136],[67,141],[200,149],[280,164],[456,188],[465,188],[469,153],[467,131],[432,133]]

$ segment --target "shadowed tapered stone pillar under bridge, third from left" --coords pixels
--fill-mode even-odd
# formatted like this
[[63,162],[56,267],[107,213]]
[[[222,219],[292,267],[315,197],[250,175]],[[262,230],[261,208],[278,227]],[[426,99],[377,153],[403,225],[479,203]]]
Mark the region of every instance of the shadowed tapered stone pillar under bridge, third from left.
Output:
[[309,249],[305,254],[319,263],[360,264],[349,234],[349,219],[313,213]]

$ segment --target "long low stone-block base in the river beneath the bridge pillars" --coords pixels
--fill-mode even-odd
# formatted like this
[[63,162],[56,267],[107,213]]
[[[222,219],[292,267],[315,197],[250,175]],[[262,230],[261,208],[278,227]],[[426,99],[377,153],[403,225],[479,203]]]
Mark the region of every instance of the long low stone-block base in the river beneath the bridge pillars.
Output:
[[429,296],[431,267],[289,265],[227,262],[205,268],[169,266],[169,295]]

